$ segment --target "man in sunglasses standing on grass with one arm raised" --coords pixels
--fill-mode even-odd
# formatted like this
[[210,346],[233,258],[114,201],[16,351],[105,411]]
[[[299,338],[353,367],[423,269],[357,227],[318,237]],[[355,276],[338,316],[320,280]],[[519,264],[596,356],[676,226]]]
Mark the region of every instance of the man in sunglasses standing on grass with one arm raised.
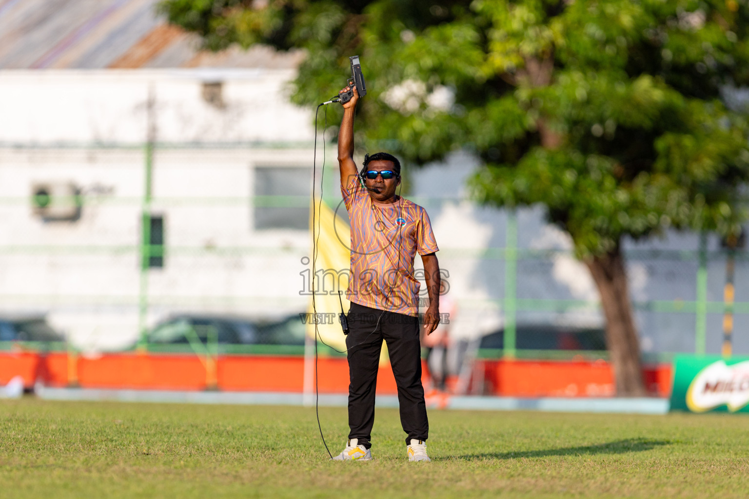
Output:
[[[348,87],[341,92],[348,91]],[[361,174],[354,163],[354,111],[359,93],[343,104],[338,136],[341,192],[351,220],[351,300],[346,337],[348,349],[348,434],[346,448],[333,459],[372,459],[370,438],[375,423],[375,388],[380,349],[387,343],[398,385],[401,425],[407,433],[409,461],[429,461],[425,441],[429,423],[421,382],[419,281],[413,277],[416,251],[422,257],[429,306],[425,334],[440,321],[440,267],[437,242],[426,210],[395,195],[401,164],[388,153],[367,155]]]

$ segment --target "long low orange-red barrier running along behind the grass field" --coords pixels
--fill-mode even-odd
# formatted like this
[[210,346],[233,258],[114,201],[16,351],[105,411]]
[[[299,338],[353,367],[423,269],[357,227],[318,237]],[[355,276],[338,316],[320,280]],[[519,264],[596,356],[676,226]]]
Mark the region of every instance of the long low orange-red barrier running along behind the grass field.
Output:
[[[21,376],[27,387],[39,381],[82,388],[298,393],[303,391],[304,369],[304,358],[282,355],[205,358],[116,353],[89,357],[67,352],[0,352],[0,384]],[[424,373],[428,382],[426,369]],[[320,358],[318,376],[321,393],[348,392],[345,358]],[[643,379],[652,395],[670,394],[670,364],[646,366]],[[505,397],[609,397],[614,393],[613,373],[605,361],[479,360],[468,386],[473,394]],[[389,364],[380,367],[377,393],[397,393]]]

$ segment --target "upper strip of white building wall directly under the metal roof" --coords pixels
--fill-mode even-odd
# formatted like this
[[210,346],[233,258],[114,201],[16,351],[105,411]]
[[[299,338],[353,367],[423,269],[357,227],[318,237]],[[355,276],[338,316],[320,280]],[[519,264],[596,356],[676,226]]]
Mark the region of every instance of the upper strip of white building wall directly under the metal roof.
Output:
[[[150,110],[162,143],[308,143],[312,116],[288,102],[286,85],[294,74],[261,68],[4,70],[0,141],[142,144]],[[203,97],[210,84],[222,85],[220,101]]]

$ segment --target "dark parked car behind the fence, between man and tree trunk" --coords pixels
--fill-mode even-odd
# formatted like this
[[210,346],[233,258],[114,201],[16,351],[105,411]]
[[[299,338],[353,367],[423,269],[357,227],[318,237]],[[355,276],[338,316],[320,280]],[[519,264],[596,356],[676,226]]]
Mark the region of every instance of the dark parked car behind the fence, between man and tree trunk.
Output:
[[[503,329],[482,337],[479,349],[503,349]],[[518,325],[515,348],[519,350],[605,350],[606,337],[601,328],[576,328],[558,325]]]

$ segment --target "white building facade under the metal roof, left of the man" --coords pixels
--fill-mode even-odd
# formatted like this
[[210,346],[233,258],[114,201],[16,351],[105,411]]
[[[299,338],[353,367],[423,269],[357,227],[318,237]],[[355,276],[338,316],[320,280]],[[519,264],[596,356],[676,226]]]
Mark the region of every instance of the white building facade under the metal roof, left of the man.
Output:
[[[228,73],[0,73],[4,311],[49,313],[76,343],[98,348],[136,335],[143,284],[148,322],[174,310],[305,309],[294,290],[309,253],[309,111],[283,98],[288,70]],[[220,102],[209,102],[206,88],[220,91]],[[52,208],[66,203],[55,195],[67,186],[80,193],[79,214],[63,206],[56,220],[34,208],[32,195],[45,188]],[[302,195],[303,207],[254,206],[264,194]],[[167,248],[146,283],[144,211],[162,221]]]

